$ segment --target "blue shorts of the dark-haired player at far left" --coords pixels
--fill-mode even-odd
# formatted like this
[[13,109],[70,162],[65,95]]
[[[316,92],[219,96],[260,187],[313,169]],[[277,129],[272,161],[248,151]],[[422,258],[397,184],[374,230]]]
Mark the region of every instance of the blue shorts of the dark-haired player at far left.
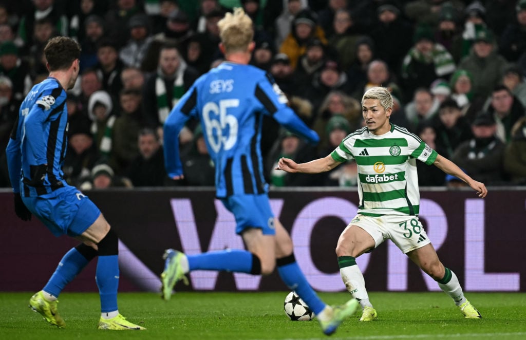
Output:
[[56,237],[78,236],[100,215],[100,210],[74,186],[65,186],[38,197],[22,197],[29,211]]

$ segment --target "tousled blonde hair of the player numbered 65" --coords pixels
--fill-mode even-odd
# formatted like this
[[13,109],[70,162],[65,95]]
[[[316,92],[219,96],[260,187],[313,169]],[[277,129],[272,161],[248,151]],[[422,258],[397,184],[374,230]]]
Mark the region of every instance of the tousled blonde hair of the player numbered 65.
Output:
[[254,38],[252,19],[242,8],[234,8],[234,14],[227,13],[218,23],[221,43],[225,52],[245,52]]

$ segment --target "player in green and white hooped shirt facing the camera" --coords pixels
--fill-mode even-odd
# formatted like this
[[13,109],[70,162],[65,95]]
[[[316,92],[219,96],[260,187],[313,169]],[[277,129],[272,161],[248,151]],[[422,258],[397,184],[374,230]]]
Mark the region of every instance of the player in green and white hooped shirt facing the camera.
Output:
[[393,98],[383,87],[370,88],[362,97],[366,126],[343,139],[330,155],[298,164],[281,158],[276,169],[317,174],[349,159],[358,165],[358,215],[341,233],[336,246],[340,274],[347,290],[360,301],[360,321],[372,321],[377,312],[369,301],[356,257],[391,239],[424,272],[438,282],[466,318],[482,316],[464,297],[457,276],[444,267],[418,221],[420,193],[416,160],[435,165],[466,182],[483,198],[488,190],[457,165],[439,155],[407,129],[389,122]]

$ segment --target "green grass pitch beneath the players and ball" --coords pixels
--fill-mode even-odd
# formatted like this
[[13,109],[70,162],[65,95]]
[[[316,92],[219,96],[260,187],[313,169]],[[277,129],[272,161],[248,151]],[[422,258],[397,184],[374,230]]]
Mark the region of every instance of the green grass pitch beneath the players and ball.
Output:
[[[289,321],[288,292],[176,293],[168,302],[151,293],[120,293],[119,311],[147,331],[98,331],[95,293],[63,293],[59,312],[65,329],[50,326],[27,307],[31,293],[0,293],[0,339],[324,339],[318,322]],[[321,293],[330,304],[347,293]],[[441,292],[370,293],[378,320],[359,314],[330,339],[526,339],[526,294],[469,293],[482,319],[465,319]]]

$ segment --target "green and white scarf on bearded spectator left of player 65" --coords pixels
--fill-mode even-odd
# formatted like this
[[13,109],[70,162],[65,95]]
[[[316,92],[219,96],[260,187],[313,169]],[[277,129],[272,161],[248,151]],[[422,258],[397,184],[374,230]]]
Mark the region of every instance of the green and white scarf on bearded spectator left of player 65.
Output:
[[[185,84],[183,80],[185,69],[186,63],[181,59],[181,64],[175,73],[174,88],[171,91],[171,107],[174,107],[179,99],[185,94]],[[168,106],[165,78],[160,70],[157,72],[157,78],[155,79],[155,94],[157,96],[157,115],[159,117],[159,122],[164,124],[170,113],[170,107]]]

